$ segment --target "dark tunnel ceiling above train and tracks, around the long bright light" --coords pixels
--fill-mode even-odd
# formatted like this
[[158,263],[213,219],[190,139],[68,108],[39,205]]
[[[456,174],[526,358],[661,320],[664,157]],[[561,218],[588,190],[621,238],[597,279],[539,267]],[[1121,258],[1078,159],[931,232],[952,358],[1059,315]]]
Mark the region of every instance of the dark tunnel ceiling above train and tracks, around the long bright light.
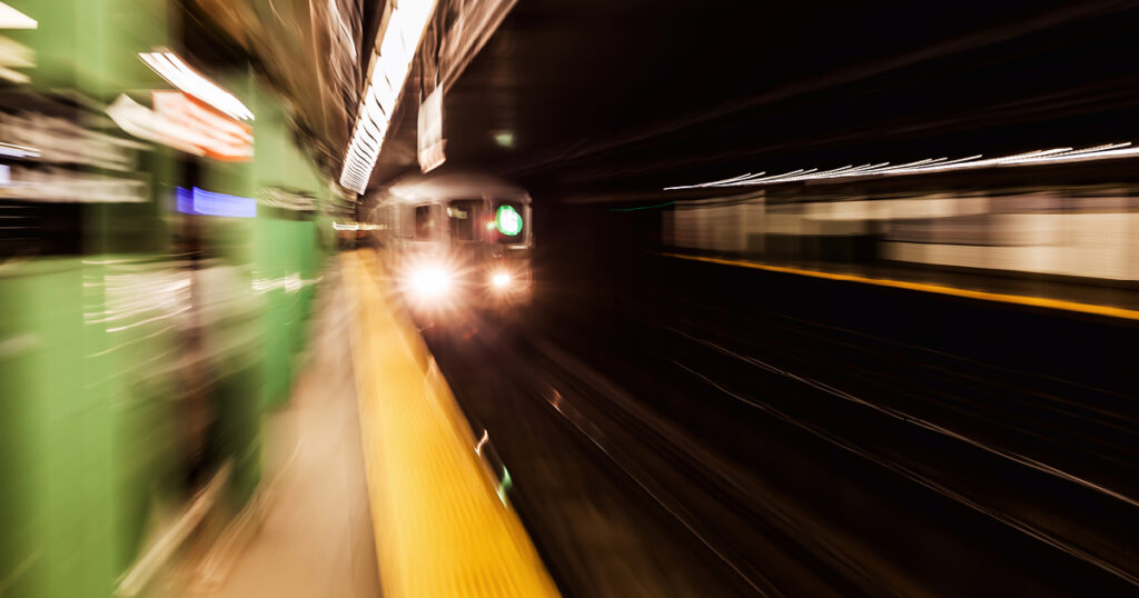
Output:
[[[195,1],[261,57],[338,174],[382,2]],[[1139,139],[1139,81],[1118,68],[1139,58],[1136,13],[1115,1],[519,0],[445,90],[443,167],[647,190],[757,167]],[[372,187],[418,170],[417,76]]]

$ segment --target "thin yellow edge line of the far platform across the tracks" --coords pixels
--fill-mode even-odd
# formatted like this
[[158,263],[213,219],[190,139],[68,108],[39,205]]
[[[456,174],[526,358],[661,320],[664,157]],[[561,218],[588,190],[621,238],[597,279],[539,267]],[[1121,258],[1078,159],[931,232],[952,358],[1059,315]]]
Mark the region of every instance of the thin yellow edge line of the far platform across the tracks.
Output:
[[908,282],[904,280],[891,280],[887,278],[866,278],[853,275],[823,272],[820,270],[803,270],[800,268],[787,268],[784,265],[770,265],[759,262],[748,262],[744,260],[722,260],[719,257],[703,257],[698,255],[685,255],[680,253],[664,253],[663,255],[667,257],[677,257],[680,260],[693,260],[696,262],[707,262],[721,265],[735,265],[738,268],[751,268],[754,270],[767,270],[769,272],[782,272],[787,275],[809,276],[813,278],[825,278],[827,280],[861,282],[865,285],[904,288],[908,290],[919,290],[923,293],[937,293],[941,295],[952,295],[956,297],[968,297],[981,301],[997,301],[1000,303],[1014,303],[1017,305],[1031,305],[1034,308],[1047,308],[1052,310],[1091,313],[1095,316],[1106,316],[1108,318],[1139,320],[1139,311],[1128,310],[1124,308],[1112,308],[1109,305],[1096,305],[1093,303],[1076,303],[1074,301],[1063,301],[1063,300],[1054,300],[1047,297],[1032,297],[1027,295],[1007,295],[1003,293],[989,293],[985,290],[969,290],[965,288],[947,287],[943,285],[928,285],[925,282]]

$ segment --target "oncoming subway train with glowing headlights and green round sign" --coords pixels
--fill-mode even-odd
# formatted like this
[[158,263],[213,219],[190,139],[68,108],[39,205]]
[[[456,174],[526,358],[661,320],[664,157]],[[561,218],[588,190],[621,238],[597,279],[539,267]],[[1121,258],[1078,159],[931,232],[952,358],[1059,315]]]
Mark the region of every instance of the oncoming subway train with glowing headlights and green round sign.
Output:
[[531,198],[485,174],[400,179],[372,198],[387,272],[417,312],[508,313],[531,301]]

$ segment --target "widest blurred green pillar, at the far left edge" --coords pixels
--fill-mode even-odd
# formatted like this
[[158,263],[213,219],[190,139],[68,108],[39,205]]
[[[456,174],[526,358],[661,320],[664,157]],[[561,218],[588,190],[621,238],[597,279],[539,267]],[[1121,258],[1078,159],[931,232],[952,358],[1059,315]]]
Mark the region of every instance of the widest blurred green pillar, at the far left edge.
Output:
[[[105,104],[161,84],[137,55],[166,44],[165,0],[8,3],[39,24],[5,32],[35,51],[36,67],[26,71],[33,88]],[[100,126],[98,116],[80,115],[80,124]],[[162,150],[142,155],[138,172],[151,175],[155,197],[167,166]],[[0,509],[16,522],[2,534],[5,596],[110,596],[170,467],[173,436],[162,426],[172,423],[164,359],[173,355],[171,335],[157,334],[170,322],[147,321],[169,305],[134,310],[122,301],[163,278],[161,207],[90,204],[83,214],[83,256],[33,260],[0,277],[10,310],[0,339],[34,339],[0,357],[0,475],[14,481]]]

